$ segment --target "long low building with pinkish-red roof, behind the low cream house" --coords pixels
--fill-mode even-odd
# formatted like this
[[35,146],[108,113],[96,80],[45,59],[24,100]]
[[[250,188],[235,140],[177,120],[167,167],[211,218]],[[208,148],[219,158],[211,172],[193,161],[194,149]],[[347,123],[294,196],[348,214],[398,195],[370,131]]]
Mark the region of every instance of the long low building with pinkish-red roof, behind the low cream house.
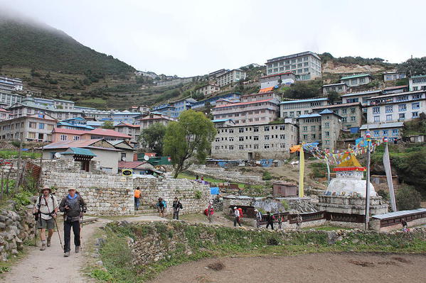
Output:
[[130,140],[132,137],[114,130],[97,128],[92,131],[70,130],[67,128],[54,128],[52,131],[52,143],[65,140],[93,140],[103,138],[105,140]]

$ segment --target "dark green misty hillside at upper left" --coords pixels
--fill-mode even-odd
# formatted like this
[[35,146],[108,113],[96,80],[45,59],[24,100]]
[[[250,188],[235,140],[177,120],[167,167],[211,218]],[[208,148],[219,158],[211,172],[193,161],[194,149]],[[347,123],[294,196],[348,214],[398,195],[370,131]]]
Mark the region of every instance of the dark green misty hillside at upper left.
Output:
[[61,30],[42,23],[14,20],[0,13],[0,66],[31,67],[70,74],[87,70],[122,74],[134,67],[96,52]]

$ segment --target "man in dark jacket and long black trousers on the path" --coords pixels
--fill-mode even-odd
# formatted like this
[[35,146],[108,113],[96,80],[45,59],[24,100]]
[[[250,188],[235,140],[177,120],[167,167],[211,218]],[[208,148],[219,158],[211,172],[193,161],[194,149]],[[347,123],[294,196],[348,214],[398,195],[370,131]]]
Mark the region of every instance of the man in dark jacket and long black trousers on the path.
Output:
[[73,228],[74,233],[75,253],[80,252],[80,219],[82,218],[82,213],[86,212],[86,209],[85,201],[75,189],[68,189],[68,195],[60,201],[59,210],[64,212],[64,257],[70,256],[71,228]]

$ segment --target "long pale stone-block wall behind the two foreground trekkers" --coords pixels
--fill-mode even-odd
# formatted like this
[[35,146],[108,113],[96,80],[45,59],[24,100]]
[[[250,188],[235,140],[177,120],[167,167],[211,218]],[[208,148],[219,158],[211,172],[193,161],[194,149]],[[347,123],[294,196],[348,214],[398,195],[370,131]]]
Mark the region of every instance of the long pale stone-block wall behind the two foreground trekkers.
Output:
[[[94,166],[95,168],[95,166]],[[80,170],[80,163],[72,160],[43,162],[40,187],[55,187],[58,201],[73,187],[87,203],[87,213],[96,215],[133,215],[134,188],[141,187],[141,205],[155,206],[161,197],[172,211],[174,197],[181,199],[181,213],[201,212],[210,195],[207,185],[188,179],[132,179],[119,174],[95,173]]]

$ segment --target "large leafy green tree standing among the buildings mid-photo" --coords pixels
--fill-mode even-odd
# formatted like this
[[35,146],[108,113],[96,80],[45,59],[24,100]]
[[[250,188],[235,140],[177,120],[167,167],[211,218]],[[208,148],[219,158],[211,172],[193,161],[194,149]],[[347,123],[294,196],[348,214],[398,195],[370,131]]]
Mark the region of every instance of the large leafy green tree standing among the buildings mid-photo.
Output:
[[171,156],[174,178],[193,164],[196,159],[204,162],[216,130],[213,122],[203,113],[187,110],[181,113],[179,121],[170,122],[164,136],[164,155]]

